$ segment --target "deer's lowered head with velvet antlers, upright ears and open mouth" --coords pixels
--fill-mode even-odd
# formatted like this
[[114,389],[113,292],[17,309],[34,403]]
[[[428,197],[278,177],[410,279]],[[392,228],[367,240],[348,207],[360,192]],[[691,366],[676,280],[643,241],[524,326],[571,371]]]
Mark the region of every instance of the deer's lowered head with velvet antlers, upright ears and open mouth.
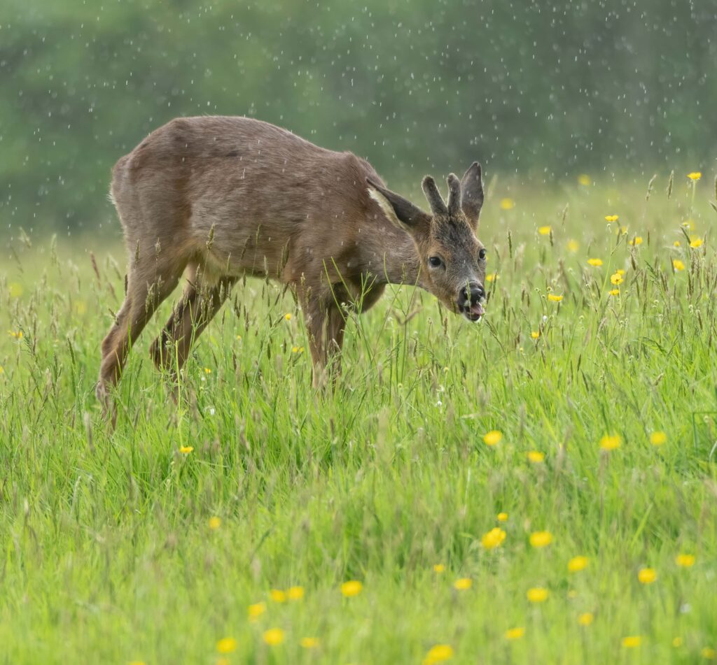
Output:
[[475,237],[483,205],[478,162],[473,162],[462,180],[453,173],[448,176],[447,204],[435,180],[428,175],[423,179],[430,215],[370,178],[366,182],[384,215],[413,239],[422,286],[455,314],[478,321],[485,301],[485,247]]

